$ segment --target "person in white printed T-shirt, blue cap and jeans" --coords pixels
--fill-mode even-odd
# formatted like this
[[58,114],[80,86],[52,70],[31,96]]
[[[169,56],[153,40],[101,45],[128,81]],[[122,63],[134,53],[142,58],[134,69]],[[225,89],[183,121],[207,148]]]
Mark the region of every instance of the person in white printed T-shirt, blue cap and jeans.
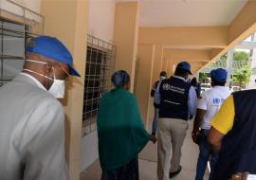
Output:
[[197,161],[195,180],[203,180],[207,163],[210,158],[210,180],[214,174],[214,167],[218,155],[212,152],[207,137],[210,132],[212,117],[219,111],[224,100],[229,98],[231,91],[225,87],[228,79],[226,69],[217,68],[210,72],[212,89],[205,91],[198,100],[197,112],[193,121],[192,140],[199,145],[199,157]]

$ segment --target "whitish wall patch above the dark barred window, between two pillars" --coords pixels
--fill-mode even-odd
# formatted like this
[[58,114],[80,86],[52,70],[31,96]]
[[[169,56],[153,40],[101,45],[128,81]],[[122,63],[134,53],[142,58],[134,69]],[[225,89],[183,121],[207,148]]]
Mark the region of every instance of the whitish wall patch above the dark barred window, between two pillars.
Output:
[[115,0],[89,0],[88,33],[106,42],[113,42]]

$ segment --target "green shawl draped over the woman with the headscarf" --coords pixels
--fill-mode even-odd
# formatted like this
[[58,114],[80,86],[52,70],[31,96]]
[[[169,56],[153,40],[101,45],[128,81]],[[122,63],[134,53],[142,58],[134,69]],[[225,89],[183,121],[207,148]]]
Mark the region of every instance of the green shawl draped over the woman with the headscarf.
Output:
[[151,138],[141,120],[136,97],[121,87],[101,98],[97,125],[102,171],[115,170],[137,158]]

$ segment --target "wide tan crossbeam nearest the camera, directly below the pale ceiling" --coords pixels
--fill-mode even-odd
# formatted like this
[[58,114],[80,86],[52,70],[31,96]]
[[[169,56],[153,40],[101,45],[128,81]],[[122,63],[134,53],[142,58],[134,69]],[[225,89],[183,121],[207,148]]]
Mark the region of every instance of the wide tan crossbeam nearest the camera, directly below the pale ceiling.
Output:
[[140,27],[139,44],[197,45],[223,48],[228,44],[229,27]]

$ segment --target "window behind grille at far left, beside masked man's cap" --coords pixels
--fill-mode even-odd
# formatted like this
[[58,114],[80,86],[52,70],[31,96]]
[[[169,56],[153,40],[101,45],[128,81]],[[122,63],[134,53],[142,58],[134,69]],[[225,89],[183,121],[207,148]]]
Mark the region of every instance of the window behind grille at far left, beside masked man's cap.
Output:
[[31,38],[25,24],[0,18],[0,87],[21,72],[25,60],[25,46]]

